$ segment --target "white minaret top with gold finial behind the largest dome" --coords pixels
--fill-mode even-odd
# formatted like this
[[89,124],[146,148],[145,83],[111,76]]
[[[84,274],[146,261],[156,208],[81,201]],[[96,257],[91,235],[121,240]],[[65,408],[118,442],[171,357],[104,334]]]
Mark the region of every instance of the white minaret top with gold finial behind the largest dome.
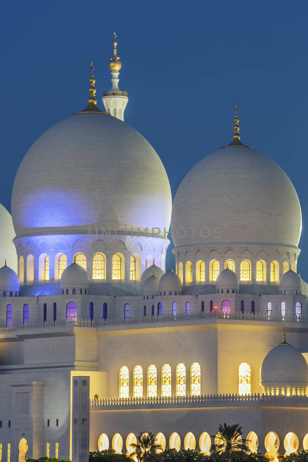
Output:
[[115,41],[114,41],[114,57],[109,62],[109,68],[111,70],[112,75],[112,87],[111,90],[103,91],[103,105],[105,106],[106,112],[110,112],[110,114],[114,117],[117,117],[120,120],[124,121],[124,111],[127,105],[128,97],[127,91],[119,90],[119,71],[122,67],[120,58],[116,55],[116,33],[114,33]]

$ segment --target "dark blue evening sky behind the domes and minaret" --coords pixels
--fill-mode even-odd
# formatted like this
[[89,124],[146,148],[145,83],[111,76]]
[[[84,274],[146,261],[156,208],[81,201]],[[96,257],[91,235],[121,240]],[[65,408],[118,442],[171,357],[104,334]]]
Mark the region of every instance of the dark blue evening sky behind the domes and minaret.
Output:
[[308,280],[307,13],[305,1],[3,2],[0,202],[10,211],[16,170],[36,138],[84,109],[91,60],[102,108],[116,30],[125,121],[156,149],[173,197],[194,164],[231,141],[238,103],[241,140],[296,188],[298,271]]

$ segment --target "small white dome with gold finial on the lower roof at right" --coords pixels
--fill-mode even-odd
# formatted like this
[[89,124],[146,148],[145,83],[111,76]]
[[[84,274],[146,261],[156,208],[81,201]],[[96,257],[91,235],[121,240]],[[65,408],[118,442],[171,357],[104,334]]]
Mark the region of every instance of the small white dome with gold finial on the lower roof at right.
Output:
[[[302,353],[285,340],[270,350],[260,368],[263,387],[308,386],[308,364]],[[286,392],[286,390],[285,390]]]

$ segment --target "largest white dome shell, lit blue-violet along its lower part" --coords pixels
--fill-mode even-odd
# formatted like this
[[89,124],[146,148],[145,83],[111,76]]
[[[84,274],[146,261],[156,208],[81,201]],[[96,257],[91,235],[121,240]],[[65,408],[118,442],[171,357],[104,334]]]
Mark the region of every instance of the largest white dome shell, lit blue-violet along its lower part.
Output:
[[43,133],[12,191],[17,236],[125,226],[128,233],[158,227],[163,234],[171,206],[168,176],[152,146],[102,113],[70,116]]

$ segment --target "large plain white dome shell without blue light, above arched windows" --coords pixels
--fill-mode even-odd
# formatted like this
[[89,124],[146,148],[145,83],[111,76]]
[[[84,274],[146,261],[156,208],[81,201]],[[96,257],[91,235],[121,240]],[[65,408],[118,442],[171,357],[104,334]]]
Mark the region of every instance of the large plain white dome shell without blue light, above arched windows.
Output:
[[249,147],[212,152],[185,176],[171,219],[175,246],[207,243],[297,246],[296,190],[270,158]]

